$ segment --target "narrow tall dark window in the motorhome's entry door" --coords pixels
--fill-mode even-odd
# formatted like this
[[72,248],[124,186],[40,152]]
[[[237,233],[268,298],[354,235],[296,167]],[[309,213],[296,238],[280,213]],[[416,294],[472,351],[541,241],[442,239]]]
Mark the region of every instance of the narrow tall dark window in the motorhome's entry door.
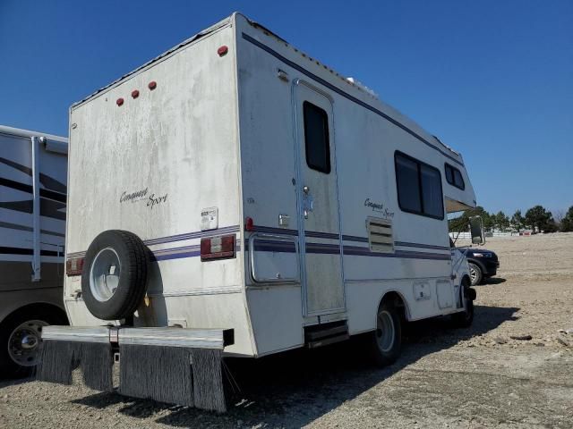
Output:
[[303,104],[306,164],[312,170],[330,172],[329,116],[308,101]]

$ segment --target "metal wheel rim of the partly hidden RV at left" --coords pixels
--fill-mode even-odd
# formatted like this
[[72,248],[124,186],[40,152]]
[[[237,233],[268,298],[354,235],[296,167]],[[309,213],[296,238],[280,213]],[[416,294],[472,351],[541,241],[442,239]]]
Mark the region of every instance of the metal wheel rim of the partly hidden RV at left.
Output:
[[29,320],[13,330],[8,338],[8,355],[20,366],[35,366],[38,363],[38,347],[41,332],[48,323]]

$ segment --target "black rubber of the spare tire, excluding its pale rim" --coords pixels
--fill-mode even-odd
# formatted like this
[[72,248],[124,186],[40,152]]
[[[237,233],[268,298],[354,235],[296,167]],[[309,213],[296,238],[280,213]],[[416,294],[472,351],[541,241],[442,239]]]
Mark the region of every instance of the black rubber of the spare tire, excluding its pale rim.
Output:
[[[113,250],[119,260],[119,280],[111,297],[104,299],[90,287],[90,274],[96,257],[108,249]],[[101,232],[91,242],[81,272],[81,296],[86,307],[102,320],[131,317],[147,291],[149,271],[150,251],[137,235],[120,230]]]

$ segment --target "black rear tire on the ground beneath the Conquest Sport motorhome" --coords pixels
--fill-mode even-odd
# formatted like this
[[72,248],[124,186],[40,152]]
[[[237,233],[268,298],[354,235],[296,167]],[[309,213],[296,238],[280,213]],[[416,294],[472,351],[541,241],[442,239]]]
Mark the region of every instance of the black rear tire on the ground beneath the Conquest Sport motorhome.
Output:
[[[382,313],[385,313],[385,317],[389,317],[391,324],[382,322]],[[402,321],[398,308],[389,301],[382,302],[378,308],[376,321],[377,329],[370,332],[368,337],[370,354],[376,366],[388,366],[396,362],[402,349]],[[383,332],[384,326],[388,326],[389,329],[393,330],[393,338],[385,346],[382,345],[382,342],[384,342],[382,338],[385,335]],[[389,332],[389,330],[387,329],[386,332]]]

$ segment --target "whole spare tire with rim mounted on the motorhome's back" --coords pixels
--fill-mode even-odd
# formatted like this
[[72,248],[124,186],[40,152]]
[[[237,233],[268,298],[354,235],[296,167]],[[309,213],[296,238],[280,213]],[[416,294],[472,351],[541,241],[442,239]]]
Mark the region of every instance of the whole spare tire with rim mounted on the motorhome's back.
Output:
[[101,232],[88,248],[81,295],[92,315],[119,320],[133,315],[147,291],[150,251],[133,232]]

